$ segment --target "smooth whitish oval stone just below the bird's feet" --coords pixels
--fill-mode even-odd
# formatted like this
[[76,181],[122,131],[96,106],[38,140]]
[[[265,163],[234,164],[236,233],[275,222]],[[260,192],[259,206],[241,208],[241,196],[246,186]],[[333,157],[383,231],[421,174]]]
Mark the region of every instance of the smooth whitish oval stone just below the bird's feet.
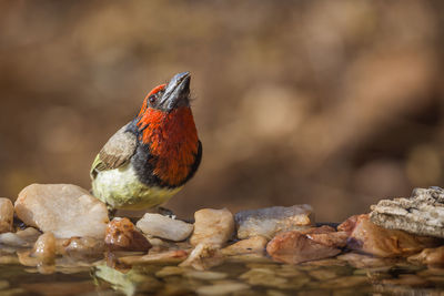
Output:
[[174,242],[186,239],[194,228],[190,223],[151,213],[144,214],[135,226],[144,234]]

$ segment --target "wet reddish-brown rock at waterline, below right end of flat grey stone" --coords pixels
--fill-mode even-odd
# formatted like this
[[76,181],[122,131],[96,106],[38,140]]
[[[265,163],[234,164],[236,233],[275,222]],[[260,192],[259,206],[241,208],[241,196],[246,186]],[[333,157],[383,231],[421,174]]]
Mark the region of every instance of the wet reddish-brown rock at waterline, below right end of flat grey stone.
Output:
[[341,244],[335,245],[334,242],[336,238],[326,239],[326,236],[322,236],[322,239],[317,241],[311,238],[317,234],[330,234],[334,237],[337,236],[334,228],[330,226],[322,226],[304,232],[284,232],[278,234],[266,245],[266,252],[274,261],[289,264],[299,264],[302,262],[327,258],[341,253],[341,249],[337,247],[342,245],[342,242]]

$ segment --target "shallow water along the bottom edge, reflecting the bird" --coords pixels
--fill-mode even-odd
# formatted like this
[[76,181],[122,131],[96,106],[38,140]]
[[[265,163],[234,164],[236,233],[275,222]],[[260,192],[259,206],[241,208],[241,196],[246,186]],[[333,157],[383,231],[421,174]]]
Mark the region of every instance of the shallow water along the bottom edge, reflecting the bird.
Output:
[[206,272],[161,264],[110,267],[113,262],[67,258],[56,266],[23,266],[13,254],[2,254],[0,261],[0,295],[444,294],[444,268],[354,253],[296,266],[236,258]]

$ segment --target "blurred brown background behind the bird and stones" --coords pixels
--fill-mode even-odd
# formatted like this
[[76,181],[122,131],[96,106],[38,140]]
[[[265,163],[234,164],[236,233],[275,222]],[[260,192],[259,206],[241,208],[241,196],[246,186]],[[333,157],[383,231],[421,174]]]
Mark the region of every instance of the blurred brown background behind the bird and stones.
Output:
[[342,221],[444,185],[443,1],[0,1],[0,195],[90,188],[145,93],[191,71],[203,142],[168,207]]

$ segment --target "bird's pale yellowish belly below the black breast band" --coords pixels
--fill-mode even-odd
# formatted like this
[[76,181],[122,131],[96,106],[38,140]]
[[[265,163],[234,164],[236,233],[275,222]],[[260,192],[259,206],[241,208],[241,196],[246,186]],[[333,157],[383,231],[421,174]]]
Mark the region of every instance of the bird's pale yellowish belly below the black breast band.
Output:
[[160,205],[176,194],[181,187],[148,187],[142,184],[132,165],[99,172],[92,181],[95,197],[113,208],[143,210]]

